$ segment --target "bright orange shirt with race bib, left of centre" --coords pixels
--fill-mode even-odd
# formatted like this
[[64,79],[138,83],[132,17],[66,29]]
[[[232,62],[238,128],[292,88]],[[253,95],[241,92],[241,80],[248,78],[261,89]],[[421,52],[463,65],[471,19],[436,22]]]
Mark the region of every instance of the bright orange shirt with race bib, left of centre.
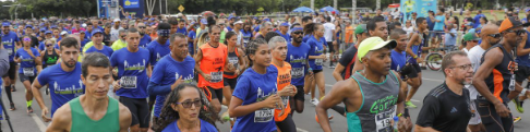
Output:
[[212,75],[212,80],[206,81],[203,75],[198,74],[197,86],[209,86],[214,89],[222,88],[222,71],[225,70],[225,62],[227,61],[228,53],[227,46],[219,43],[219,46],[214,48],[209,46],[209,44],[206,44],[201,46],[200,50],[203,53],[200,68],[205,74]]

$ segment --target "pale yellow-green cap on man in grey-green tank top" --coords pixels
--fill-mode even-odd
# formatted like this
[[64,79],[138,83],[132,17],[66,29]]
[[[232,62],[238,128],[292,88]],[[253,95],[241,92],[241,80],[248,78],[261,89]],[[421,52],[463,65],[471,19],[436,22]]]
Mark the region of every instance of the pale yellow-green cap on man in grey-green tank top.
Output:
[[362,62],[361,58],[363,58],[369,51],[378,50],[386,45],[390,45],[390,49],[394,49],[397,46],[396,40],[383,40],[381,37],[369,37],[361,41],[359,45],[359,49],[357,50],[357,58],[359,61]]

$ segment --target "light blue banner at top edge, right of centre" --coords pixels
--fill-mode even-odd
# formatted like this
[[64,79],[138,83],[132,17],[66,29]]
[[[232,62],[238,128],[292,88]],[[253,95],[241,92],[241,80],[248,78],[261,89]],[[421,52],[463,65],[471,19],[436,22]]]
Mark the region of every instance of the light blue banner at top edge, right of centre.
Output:
[[[401,0],[401,11],[403,11],[403,21],[410,20],[412,12],[418,13],[418,17],[427,17],[429,11],[436,13],[437,0]],[[403,22],[405,23],[405,22]]]

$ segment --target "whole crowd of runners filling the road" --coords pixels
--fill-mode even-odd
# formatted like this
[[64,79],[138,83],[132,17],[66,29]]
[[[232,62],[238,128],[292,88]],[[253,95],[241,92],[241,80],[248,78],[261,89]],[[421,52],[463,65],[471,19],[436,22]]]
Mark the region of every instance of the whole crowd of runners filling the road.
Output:
[[[228,122],[233,132],[296,132],[305,95],[326,132],[327,109],[350,132],[514,131],[520,118],[507,104],[523,112],[530,97],[521,86],[530,80],[530,23],[510,12],[489,21],[468,11],[462,24],[444,9],[429,13],[405,24],[381,11],[353,22],[335,12],[4,21],[5,107],[17,109],[19,77],[26,111],[35,99],[48,131],[214,132]],[[430,89],[413,123],[408,109],[417,108],[410,100],[424,56],[439,47],[445,82]],[[329,92],[325,68],[337,81]]]

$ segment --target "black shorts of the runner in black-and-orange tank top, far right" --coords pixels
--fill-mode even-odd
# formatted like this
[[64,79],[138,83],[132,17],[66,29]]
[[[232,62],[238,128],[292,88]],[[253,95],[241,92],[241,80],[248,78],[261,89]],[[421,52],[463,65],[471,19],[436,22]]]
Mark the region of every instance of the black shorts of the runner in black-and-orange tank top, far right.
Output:
[[[508,105],[504,105],[509,110]],[[497,115],[495,106],[484,97],[477,98],[477,111],[479,111],[482,124],[484,124],[489,132],[514,132],[514,119],[511,113],[506,118],[502,118]]]

